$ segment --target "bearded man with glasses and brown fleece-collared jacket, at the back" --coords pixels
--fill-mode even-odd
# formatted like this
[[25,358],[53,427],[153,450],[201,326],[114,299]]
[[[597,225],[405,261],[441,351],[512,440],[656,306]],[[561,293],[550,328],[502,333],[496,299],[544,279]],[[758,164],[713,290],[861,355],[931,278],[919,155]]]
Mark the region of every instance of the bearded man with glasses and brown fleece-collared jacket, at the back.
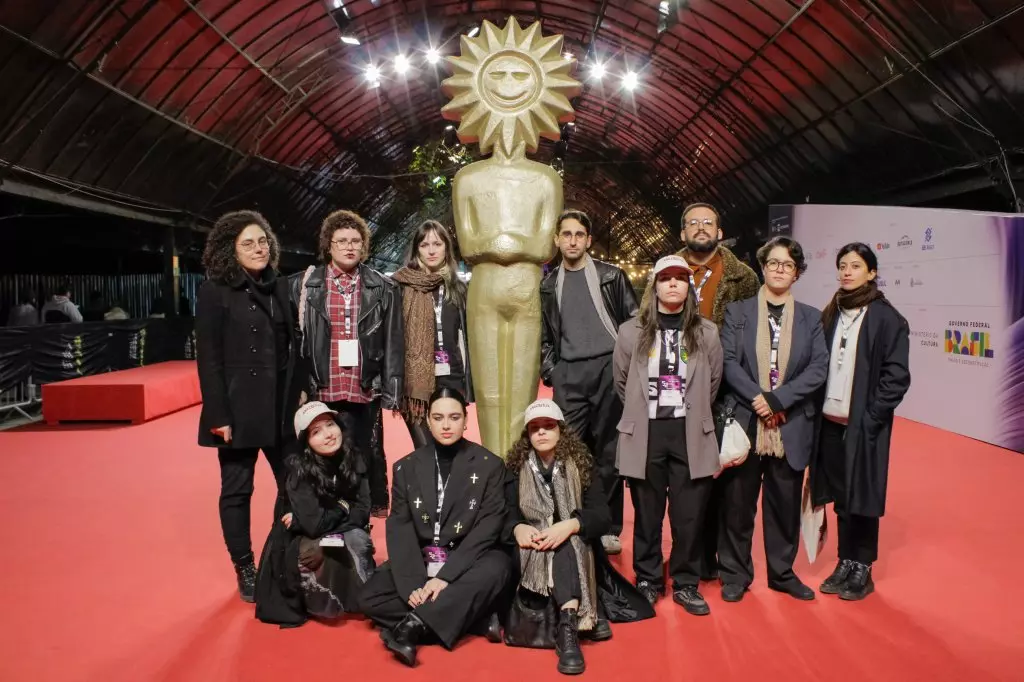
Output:
[[[683,209],[680,227],[680,238],[685,247],[678,255],[685,258],[693,268],[690,287],[696,295],[700,316],[711,319],[721,330],[725,322],[726,306],[733,301],[757,296],[761,282],[749,265],[719,244],[722,240],[722,221],[714,206],[690,204]],[[716,414],[720,410],[721,404],[716,404]],[[718,578],[717,550],[719,517],[722,514],[721,499],[722,488],[719,479],[716,479],[705,516],[700,578],[706,581]]]

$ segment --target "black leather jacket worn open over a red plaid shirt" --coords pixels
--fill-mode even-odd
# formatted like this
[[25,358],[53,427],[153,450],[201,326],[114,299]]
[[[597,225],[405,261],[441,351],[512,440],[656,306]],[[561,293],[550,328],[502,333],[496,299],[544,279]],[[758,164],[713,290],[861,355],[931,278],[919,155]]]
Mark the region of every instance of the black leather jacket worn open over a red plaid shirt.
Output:
[[[303,311],[301,367],[308,372],[310,391],[327,383],[331,364],[331,322],[327,312],[326,265],[317,265],[306,280]],[[290,280],[291,296],[300,305],[302,280]],[[383,407],[397,410],[406,377],[406,335],[401,321],[401,291],[396,282],[377,270],[359,265],[359,360],[360,384],[380,392]],[[314,399],[310,392],[310,399]]]

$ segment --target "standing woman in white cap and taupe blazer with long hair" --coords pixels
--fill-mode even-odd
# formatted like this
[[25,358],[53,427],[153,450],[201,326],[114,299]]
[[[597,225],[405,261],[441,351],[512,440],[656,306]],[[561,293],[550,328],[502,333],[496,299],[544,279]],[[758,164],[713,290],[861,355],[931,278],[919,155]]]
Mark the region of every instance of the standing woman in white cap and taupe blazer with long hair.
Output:
[[654,264],[640,314],[618,330],[615,389],[623,399],[618,473],[634,497],[633,568],[653,604],[664,590],[662,523],[672,527],[673,599],[694,615],[710,612],[697,591],[702,527],[719,469],[712,402],[722,382],[718,329],[700,316],[679,256]]

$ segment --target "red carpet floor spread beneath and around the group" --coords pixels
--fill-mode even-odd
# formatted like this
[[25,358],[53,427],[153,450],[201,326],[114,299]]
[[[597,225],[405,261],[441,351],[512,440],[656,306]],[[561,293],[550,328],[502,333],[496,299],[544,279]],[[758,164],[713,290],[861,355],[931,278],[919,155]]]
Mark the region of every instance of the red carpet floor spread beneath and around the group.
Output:
[[[236,596],[216,454],[195,444],[198,418],[191,408],[139,426],[0,433],[0,680],[561,679],[550,651],[470,638],[454,653],[424,648],[411,671],[361,620],[257,622]],[[403,424],[385,420],[388,453],[404,454]],[[655,620],[586,646],[585,678],[1024,679],[1024,457],[900,421],[893,459],[876,595],[803,603],[771,592],[758,538],[760,574],[741,603],[705,586],[712,614],[699,619],[663,599]],[[272,504],[259,466],[257,549]],[[374,536],[381,556],[382,521]],[[817,586],[835,560],[833,537],[797,570]],[[617,562],[629,574],[629,556]]]

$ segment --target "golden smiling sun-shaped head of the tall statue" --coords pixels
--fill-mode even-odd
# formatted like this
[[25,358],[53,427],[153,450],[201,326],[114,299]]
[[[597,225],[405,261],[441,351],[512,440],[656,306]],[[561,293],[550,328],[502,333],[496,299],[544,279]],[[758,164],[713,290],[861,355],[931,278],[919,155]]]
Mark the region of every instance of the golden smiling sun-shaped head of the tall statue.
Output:
[[460,121],[459,139],[478,141],[486,154],[498,146],[511,155],[541,137],[558,139],[559,124],[571,121],[569,97],[580,92],[570,76],[572,60],[562,55],[562,37],[541,35],[540,23],[519,28],[509,17],[504,29],[484,22],[476,38],[462,37],[462,53],[449,57],[455,74],[441,83],[452,97],[441,115]]

